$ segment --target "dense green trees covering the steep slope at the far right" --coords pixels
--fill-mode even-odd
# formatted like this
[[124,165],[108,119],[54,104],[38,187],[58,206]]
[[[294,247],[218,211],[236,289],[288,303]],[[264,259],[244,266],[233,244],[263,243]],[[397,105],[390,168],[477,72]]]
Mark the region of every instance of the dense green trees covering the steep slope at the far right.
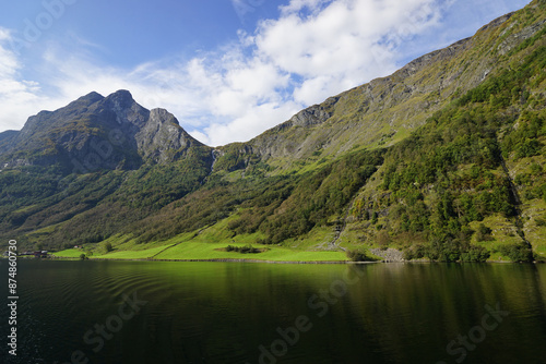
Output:
[[[473,235],[477,241],[487,235],[471,225],[499,215],[513,226],[509,234],[520,238],[499,251],[513,260],[532,259],[520,195],[546,201],[544,33],[520,47],[523,57],[508,70],[455,99],[390,148],[380,175],[383,193],[361,194],[354,217],[371,219],[388,241],[422,240],[424,247],[412,247],[410,256],[459,260],[476,248]],[[509,166],[530,158],[532,172],[512,181]],[[383,216],[380,222],[377,216]]]

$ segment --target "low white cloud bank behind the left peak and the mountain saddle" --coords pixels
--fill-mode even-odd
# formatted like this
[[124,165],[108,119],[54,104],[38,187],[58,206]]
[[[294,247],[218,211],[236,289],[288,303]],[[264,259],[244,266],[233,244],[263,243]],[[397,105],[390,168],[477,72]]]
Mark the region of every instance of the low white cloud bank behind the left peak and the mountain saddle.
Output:
[[168,109],[188,132],[216,146],[248,141],[301,108],[283,98],[288,74],[259,58],[244,58],[242,50],[234,46],[219,57],[168,65],[150,62],[131,71],[54,51],[45,63],[52,75],[49,83],[58,90],[58,107],[91,90],[108,95],[124,88],[146,108]]

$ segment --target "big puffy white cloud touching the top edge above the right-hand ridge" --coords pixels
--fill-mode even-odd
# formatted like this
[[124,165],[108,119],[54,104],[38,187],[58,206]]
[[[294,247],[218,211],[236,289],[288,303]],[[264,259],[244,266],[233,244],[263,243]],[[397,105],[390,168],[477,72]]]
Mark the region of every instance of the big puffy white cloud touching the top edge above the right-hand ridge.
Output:
[[[302,8],[310,14],[301,14]],[[319,12],[316,9],[320,9]],[[304,82],[296,100],[305,104],[356,86],[396,69],[393,50],[438,24],[434,0],[294,0],[284,16],[260,24],[256,45],[262,57]]]

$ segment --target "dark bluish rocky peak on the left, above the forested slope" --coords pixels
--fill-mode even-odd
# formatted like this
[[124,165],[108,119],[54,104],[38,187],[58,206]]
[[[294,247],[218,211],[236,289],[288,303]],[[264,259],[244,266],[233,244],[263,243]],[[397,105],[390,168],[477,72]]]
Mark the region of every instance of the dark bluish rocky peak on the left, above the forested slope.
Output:
[[166,110],[151,112],[127,90],[106,98],[91,93],[59,110],[41,111],[21,132],[4,135],[0,160],[5,168],[59,166],[86,173],[173,161],[191,145],[202,144]]

